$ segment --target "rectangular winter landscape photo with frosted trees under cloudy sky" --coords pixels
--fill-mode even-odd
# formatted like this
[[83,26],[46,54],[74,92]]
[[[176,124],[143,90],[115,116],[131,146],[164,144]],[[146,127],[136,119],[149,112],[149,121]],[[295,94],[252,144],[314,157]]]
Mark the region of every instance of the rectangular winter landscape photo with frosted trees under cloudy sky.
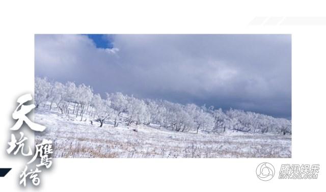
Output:
[[290,34],[34,37],[53,157],[291,157]]

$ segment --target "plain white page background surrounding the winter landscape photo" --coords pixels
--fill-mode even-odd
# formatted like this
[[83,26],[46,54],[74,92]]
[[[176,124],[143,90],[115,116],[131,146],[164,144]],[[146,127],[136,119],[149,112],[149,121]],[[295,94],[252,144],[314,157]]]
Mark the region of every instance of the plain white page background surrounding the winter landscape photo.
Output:
[[[8,1],[0,3],[1,191],[315,191],[325,181],[326,25],[250,25],[259,16],[322,17],[322,4],[284,1]],[[304,19],[303,18],[303,19]],[[300,19],[299,19],[300,20]],[[26,159],[9,156],[16,99],[34,93],[34,34],[292,34],[292,158],[56,158],[39,187],[19,186]],[[26,130],[26,129],[25,129]],[[24,131],[25,131],[24,130]],[[33,136],[30,135],[30,140]],[[261,162],[276,177],[257,178]],[[280,180],[281,164],[320,164],[318,179]]]

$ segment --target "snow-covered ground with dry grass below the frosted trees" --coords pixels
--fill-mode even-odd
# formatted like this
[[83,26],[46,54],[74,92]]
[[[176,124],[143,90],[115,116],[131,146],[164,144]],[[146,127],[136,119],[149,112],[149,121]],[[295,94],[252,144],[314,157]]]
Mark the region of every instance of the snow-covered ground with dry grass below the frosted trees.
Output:
[[53,141],[53,157],[291,157],[291,135],[243,132],[175,132],[158,126],[119,125],[88,117],[35,109],[35,122],[47,128],[35,134],[36,143]]

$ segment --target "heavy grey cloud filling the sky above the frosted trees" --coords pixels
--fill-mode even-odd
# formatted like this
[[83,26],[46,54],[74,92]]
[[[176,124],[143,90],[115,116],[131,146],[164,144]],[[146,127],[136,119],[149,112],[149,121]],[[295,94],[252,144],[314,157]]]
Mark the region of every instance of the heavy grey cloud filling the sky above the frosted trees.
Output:
[[36,35],[35,74],[95,92],[291,117],[290,35]]

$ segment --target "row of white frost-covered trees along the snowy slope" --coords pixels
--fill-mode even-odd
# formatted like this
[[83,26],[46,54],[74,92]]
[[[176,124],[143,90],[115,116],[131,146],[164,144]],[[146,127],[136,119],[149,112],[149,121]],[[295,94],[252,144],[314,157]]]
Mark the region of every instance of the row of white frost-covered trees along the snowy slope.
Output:
[[[72,82],[62,84],[50,82],[46,78],[35,79],[35,104],[49,110],[53,104],[66,116],[80,117],[86,121],[97,120],[100,126],[111,120],[119,124],[151,124],[175,131],[224,132],[277,132],[291,134],[291,121],[283,118],[244,112],[238,109],[223,111],[213,106],[182,105],[166,100],[138,99],[122,93],[106,93],[105,98],[94,94],[93,89],[84,84],[76,86]],[[46,106],[47,107],[47,106]]]

